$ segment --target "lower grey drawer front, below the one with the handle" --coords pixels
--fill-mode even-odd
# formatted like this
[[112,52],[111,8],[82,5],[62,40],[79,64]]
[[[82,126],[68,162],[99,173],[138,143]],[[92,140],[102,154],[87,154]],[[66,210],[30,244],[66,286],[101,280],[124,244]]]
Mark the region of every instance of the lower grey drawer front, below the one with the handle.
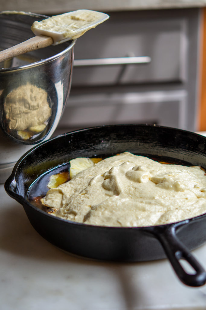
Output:
[[70,98],[58,130],[123,123],[185,128],[186,98],[185,91],[79,95]]

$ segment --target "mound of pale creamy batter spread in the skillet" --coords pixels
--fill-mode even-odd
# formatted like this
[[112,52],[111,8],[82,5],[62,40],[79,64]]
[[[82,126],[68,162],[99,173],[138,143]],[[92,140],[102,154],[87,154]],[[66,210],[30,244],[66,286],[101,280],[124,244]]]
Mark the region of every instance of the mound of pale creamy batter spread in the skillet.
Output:
[[199,166],[162,164],[124,152],[79,172],[42,198],[52,214],[100,226],[151,226],[206,212]]

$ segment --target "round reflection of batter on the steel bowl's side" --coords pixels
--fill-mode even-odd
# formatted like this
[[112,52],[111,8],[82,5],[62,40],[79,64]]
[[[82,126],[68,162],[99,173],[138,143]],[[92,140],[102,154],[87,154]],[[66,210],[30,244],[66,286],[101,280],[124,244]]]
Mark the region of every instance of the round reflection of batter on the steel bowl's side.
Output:
[[17,131],[23,139],[30,137],[29,132],[41,132],[51,116],[48,93],[27,82],[14,88],[5,98],[4,113],[9,130]]

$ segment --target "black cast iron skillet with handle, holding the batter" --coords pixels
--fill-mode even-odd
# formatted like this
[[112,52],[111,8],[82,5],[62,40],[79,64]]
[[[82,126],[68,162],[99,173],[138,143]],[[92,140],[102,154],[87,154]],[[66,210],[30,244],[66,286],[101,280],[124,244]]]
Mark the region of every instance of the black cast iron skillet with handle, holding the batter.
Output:
[[[63,167],[70,159],[124,151],[151,158],[172,157],[206,169],[206,138],[201,135],[153,125],[99,126],[59,135],[32,148],[16,163],[5,189],[23,205],[36,231],[63,250],[109,261],[167,257],[184,284],[204,285],[206,272],[189,251],[206,241],[206,214],[150,227],[101,227],[53,217],[27,201],[27,193],[37,179],[53,168]],[[194,272],[185,271],[182,259]]]

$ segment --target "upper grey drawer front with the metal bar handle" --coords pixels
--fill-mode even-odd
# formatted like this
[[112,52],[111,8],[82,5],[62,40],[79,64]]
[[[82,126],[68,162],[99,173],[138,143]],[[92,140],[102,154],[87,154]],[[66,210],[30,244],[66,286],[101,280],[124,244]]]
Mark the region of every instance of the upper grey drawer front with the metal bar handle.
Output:
[[[145,19],[143,12],[122,14],[111,13],[109,20],[77,39],[72,86],[183,82],[187,18],[160,18],[153,13]],[[124,60],[132,60],[128,57],[139,56],[147,59],[138,64],[133,58],[137,63],[124,64]]]

